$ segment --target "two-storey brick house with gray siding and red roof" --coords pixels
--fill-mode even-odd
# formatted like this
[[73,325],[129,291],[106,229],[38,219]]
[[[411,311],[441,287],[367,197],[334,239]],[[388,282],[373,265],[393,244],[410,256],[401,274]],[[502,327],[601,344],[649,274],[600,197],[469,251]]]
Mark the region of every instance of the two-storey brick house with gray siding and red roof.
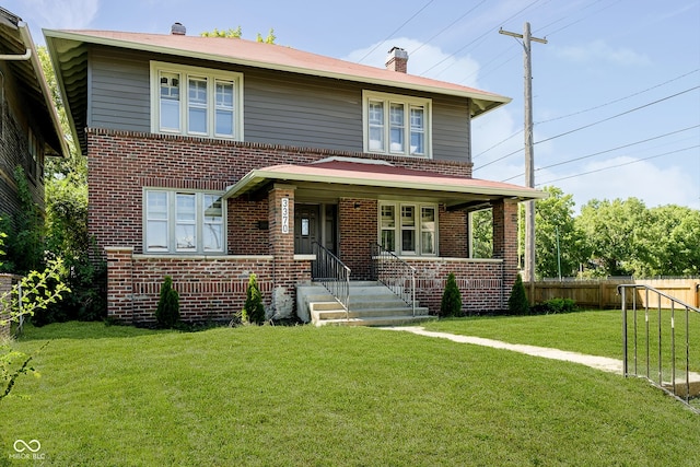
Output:
[[[465,311],[506,306],[517,202],[542,194],[472,179],[470,125],[509,98],[407,74],[396,48],[377,69],[178,23],[44,34],[89,160],[109,316],[153,320],[171,276],[185,319],[228,318],[255,273],[270,314],[307,319],[298,287],[346,270],[327,252],[374,280],[377,243],[433,314],[448,272]],[[486,207],[494,259],[470,259],[468,212]]]

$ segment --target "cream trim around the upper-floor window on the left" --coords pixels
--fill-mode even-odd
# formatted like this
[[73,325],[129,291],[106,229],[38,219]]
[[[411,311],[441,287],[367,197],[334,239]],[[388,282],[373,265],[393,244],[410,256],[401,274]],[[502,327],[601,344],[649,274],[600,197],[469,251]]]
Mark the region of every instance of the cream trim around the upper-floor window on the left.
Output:
[[[180,74],[180,98],[179,98],[179,130],[178,131],[168,131],[161,130],[161,106],[160,106],[160,96],[161,96],[161,83],[159,80],[159,74],[161,72],[166,73],[179,73]],[[208,128],[207,133],[201,132],[189,132],[188,131],[188,77],[192,75],[195,78],[207,78],[207,113],[208,113]],[[217,126],[215,126],[215,112],[217,112],[217,90],[215,90],[215,80],[222,81],[231,81],[233,82],[233,92],[234,92],[234,127],[233,127],[233,137],[218,135]],[[185,135],[185,136],[195,136],[195,137],[208,137],[208,138],[218,138],[218,139],[229,139],[234,141],[243,141],[243,73],[237,73],[234,71],[221,71],[221,70],[212,70],[208,68],[200,67],[190,67],[186,65],[178,63],[167,63],[163,61],[151,61],[151,132],[162,133],[162,135]]]

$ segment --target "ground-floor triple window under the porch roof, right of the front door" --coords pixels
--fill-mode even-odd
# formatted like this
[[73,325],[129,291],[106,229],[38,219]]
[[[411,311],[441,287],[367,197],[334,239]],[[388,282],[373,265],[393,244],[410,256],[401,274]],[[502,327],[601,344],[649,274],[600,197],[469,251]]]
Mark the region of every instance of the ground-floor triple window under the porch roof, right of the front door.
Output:
[[380,244],[399,255],[436,255],[436,212],[435,205],[382,202]]

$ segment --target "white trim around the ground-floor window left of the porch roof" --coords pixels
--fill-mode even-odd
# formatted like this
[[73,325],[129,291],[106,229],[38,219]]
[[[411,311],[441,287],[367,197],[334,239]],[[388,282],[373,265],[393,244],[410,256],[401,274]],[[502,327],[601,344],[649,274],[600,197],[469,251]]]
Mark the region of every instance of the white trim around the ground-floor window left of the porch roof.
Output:
[[[163,249],[149,249],[148,248],[148,192],[149,191],[159,191],[167,194],[167,250]],[[196,209],[196,238],[197,246],[194,250],[182,250],[177,249],[177,238],[176,238],[176,203],[178,194],[184,195],[196,195],[195,209]],[[202,198],[205,195],[213,195],[222,197],[221,199],[221,250],[205,250],[203,249],[203,226],[205,226],[205,213],[201,209]],[[143,245],[143,254],[145,255],[177,255],[177,256],[187,256],[187,255],[207,255],[207,256],[219,256],[226,254],[226,200],[223,199],[223,191],[210,191],[210,190],[187,190],[187,189],[172,189],[172,188],[150,188],[144,187],[142,194],[142,245]]]

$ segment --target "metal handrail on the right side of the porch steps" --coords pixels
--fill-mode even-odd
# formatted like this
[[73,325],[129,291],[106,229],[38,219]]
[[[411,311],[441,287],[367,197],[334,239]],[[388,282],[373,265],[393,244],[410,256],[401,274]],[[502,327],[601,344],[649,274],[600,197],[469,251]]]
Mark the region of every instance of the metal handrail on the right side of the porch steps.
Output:
[[372,244],[372,249],[375,279],[406,302],[416,316],[416,268],[378,243]]

